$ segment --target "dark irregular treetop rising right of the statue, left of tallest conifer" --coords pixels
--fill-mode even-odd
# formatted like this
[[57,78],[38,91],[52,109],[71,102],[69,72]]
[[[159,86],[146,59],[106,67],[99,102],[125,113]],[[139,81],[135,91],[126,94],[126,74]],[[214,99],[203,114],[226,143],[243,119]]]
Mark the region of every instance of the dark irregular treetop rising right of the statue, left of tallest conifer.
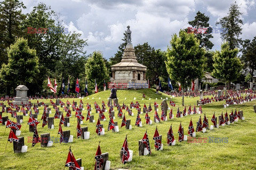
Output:
[[[195,19],[193,21],[189,21],[188,23],[192,25],[196,29],[195,36],[200,41],[200,47],[204,47],[205,49],[209,50],[212,49],[213,44],[210,41],[210,38],[213,38],[212,34],[209,31],[209,16],[206,16],[204,13],[198,11],[196,13]],[[200,30],[206,29],[205,32]]]

